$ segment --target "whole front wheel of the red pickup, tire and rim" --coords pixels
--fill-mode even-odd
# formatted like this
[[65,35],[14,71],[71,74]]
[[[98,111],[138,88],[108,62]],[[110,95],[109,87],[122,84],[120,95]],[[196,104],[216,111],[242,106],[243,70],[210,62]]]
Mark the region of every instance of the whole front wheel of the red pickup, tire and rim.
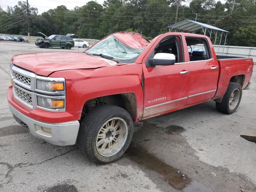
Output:
[[130,114],[114,105],[94,108],[84,117],[78,135],[79,147],[89,160],[108,164],[127,150],[134,132]]

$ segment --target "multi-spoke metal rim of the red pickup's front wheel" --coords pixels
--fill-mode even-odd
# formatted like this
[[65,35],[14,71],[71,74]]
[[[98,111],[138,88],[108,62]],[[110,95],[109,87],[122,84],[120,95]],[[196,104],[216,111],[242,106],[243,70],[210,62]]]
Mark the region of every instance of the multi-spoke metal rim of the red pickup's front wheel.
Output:
[[107,120],[96,137],[96,149],[104,157],[113,156],[124,146],[128,136],[128,126],[124,119],[114,117]]

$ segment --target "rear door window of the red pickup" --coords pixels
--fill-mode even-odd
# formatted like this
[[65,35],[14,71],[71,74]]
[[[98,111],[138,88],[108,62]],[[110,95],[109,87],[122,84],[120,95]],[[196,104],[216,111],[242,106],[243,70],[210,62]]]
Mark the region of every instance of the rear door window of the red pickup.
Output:
[[208,41],[204,38],[186,37],[190,61],[201,61],[212,58]]

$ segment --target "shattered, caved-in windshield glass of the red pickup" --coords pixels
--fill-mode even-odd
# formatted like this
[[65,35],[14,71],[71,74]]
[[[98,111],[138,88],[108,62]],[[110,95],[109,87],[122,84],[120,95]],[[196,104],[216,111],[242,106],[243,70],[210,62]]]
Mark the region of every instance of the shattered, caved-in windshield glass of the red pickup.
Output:
[[88,55],[103,54],[105,56],[112,57],[116,62],[133,63],[144,50],[144,48],[131,48],[122,43],[113,35],[110,35],[106,39],[95,44],[85,53]]

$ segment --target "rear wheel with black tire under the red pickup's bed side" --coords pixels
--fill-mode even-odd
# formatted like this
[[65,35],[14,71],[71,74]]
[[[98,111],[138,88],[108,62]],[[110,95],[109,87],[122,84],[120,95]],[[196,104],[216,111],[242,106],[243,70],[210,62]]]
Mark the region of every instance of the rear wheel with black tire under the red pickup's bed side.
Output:
[[[235,99],[237,99],[237,103],[233,100],[234,106],[230,106],[230,101],[232,100],[231,95],[232,93],[238,94]],[[228,89],[226,90],[226,93],[224,94],[223,98],[222,98],[222,102],[218,103],[216,102],[216,108],[222,112],[222,113],[226,113],[226,114],[232,114],[236,111],[236,109],[238,108],[240,101],[242,98],[242,87],[240,84],[235,83],[235,82],[230,82],[228,84]],[[231,100],[230,100],[231,99]]]

